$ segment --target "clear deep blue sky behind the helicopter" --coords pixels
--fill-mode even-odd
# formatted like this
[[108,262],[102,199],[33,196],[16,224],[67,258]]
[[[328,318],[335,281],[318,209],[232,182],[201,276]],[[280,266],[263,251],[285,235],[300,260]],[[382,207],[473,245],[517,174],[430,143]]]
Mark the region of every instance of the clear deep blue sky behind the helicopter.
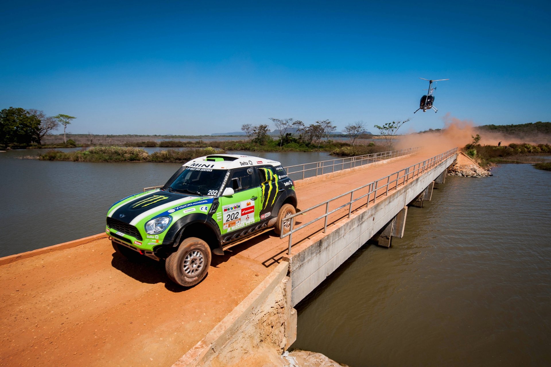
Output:
[[[0,108],[73,133],[210,134],[414,117],[404,132],[551,121],[551,3],[12,2]],[[427,82],[434,112],[413,114]],[[425,84],[426,83],[426,84]]]

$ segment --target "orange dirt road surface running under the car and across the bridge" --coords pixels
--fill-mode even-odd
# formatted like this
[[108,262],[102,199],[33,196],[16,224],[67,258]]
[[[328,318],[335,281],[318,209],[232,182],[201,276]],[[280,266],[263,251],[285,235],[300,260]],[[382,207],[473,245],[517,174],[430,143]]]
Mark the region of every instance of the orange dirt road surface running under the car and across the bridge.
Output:
[[[433,155],[406,156],[298,187],[299,208]],[[309,215],[322,212],[325,208]],[[293,242],[322,227],[320,221],[296,233]],[[107,239],[3,265],[0,360],[7,365],[171,365],[271,272],[287,244],[268,232],[231,247],[225,256],[213,256],[207,278],[187,290],[172,285],[159,263],[114,257]]]

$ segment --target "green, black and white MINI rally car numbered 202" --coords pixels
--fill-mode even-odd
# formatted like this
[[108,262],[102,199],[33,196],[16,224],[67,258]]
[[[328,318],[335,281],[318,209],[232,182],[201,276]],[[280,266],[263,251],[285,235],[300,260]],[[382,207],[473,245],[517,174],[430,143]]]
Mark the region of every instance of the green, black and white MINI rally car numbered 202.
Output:
[[106,233],[121,255],[166,260],[185,287],[207,275],[211,253],[273,226],[289,231],[294,182],[281,164],[249,155],[207,155],[184,164],[166,184],[129,196],[107,212]]

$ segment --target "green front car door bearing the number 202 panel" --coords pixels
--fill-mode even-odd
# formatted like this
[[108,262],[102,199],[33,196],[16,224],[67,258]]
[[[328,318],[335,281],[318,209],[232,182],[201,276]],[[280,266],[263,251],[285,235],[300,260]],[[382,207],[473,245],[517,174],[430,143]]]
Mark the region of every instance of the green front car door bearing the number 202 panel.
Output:
[[220,197],[222,234],[260,220],[260,187],[254,173],[252,168],[237,168],[231,172],[226,187],[233,188],[234,195]]

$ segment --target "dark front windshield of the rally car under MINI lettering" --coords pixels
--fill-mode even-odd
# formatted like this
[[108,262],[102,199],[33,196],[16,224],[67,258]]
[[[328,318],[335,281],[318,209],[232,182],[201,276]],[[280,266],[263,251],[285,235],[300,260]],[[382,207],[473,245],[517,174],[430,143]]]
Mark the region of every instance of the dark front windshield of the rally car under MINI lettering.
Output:
[[[218,196],[228,170],[186,167],[174,180],[167,182],[167,191],[197,196]],[[227,180],[227,178],[226,178]]]

